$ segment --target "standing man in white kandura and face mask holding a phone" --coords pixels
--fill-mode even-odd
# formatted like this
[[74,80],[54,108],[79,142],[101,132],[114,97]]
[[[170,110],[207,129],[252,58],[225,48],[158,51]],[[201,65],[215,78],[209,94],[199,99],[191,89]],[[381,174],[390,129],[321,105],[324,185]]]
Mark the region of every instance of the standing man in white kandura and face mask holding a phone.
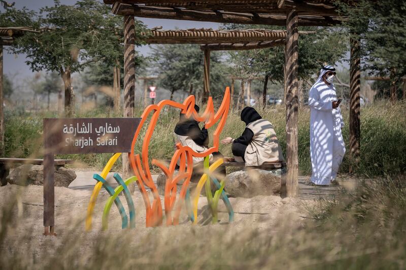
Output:
[[334,75],[334,67],[324,66],[309,92],[312,185],[337,184],[335,177],[346,152],[341,99],[337,100],[335,94]]

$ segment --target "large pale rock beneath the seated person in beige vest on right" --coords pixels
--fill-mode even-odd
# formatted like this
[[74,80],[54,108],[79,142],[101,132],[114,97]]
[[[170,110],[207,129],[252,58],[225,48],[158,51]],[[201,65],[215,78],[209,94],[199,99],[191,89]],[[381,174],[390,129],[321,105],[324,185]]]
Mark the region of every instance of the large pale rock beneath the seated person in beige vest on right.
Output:
[[282,173],[282,169],[236,171],[227,175],[225,190],[232,197],[278,195],[281,192]]

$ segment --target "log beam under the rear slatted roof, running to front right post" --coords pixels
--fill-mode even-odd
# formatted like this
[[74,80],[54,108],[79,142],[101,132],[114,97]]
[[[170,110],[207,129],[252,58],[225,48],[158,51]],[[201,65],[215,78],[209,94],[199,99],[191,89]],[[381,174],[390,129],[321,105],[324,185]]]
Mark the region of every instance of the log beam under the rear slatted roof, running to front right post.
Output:
[[200,46],[201,50],[211,51],[242,51],[254,49],[266,49],[277,46],[284,46],[285,40],[275,40],[267,42],[250,42],[250,43],[221,43],[221,44],[207,44]]

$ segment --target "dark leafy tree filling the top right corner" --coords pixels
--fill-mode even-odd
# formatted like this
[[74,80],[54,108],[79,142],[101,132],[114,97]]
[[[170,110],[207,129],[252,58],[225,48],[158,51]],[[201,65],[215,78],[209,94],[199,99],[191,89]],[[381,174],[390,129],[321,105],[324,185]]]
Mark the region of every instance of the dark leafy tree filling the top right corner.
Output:
[[360,38],[362,69],[370,75],[390,75],[396,90],[406,74],[406,2],[360,0],[336,5],[350,18],[345,24],[348,34]]

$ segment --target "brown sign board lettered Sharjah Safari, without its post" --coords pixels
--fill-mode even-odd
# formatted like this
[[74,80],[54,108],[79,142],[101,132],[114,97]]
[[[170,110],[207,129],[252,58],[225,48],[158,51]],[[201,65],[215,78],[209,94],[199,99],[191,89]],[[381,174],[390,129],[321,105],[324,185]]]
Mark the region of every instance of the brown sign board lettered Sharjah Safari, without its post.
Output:
[[130,152],[139,118],[44,119],[46,152],[118,153]]

